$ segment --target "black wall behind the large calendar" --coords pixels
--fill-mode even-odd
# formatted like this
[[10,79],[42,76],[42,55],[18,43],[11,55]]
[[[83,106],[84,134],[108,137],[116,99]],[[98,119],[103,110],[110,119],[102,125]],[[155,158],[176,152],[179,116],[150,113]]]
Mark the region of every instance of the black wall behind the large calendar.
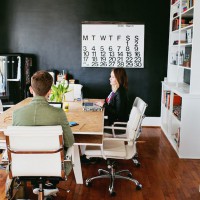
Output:
[[84,97],[107,96],[111,69],[81,67],[81,22],[144,24],[144,68],[126,69],[129,98],[143,98],[146,115],[160,116],[170,0],[6,0],[0,5],[0,53],[31,53],[37,69],[67,70],[83,84]]

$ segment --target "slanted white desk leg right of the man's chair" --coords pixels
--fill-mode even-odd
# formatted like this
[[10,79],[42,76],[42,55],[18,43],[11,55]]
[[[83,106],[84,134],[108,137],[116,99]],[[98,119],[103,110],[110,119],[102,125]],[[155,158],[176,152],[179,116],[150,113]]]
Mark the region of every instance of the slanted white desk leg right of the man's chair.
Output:
[[83,184],[83,175],[81,169],[80,155],[79,155],[79,147],[78,145],[74,145],[74,153],[72,154],[73,161],[73,170],[74,176],[77,184]]

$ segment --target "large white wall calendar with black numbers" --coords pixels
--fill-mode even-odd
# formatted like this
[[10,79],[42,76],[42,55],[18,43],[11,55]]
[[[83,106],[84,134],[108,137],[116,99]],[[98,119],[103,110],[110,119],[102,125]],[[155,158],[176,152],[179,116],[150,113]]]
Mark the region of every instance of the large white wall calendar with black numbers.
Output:
[[144,68],[144,25],[82,24],[82,67]]

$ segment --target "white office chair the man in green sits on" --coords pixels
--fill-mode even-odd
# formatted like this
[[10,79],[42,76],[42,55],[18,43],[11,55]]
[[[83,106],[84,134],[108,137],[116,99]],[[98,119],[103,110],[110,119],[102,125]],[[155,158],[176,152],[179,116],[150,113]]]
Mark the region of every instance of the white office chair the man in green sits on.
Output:
[[[38,199],[44,198],[48,181],[65,180],[61,126],[9,126],[5,131],[9,161],[9,178],[36,182]],[[68,150],[68,158],[71,149]],[[12,196],[10,189],[8,196]]]

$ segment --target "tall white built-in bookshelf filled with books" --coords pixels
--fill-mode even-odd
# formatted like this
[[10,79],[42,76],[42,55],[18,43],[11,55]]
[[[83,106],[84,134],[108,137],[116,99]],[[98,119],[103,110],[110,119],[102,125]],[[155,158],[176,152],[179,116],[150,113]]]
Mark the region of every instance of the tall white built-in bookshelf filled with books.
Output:
[[171,0],[161,128],[180,158],[200,158],[200,1]]

